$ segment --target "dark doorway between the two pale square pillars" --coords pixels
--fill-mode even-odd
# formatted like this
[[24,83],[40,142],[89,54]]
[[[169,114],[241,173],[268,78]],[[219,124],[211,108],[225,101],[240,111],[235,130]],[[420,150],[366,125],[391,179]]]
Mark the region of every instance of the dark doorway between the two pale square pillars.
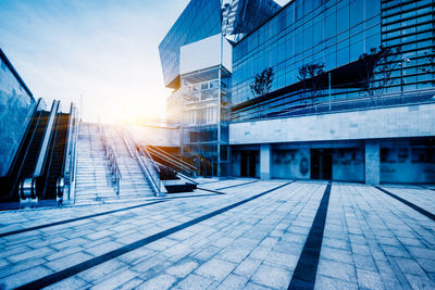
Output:
[[311,149],[311,178],[331,180],[333,152],[331,149]]

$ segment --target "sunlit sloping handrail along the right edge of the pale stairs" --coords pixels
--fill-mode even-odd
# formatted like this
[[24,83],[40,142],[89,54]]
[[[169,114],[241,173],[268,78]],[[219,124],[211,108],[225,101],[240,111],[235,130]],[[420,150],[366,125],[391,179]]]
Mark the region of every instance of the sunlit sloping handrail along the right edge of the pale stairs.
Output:
[[145,152],[141,147],[134,141],[133,137],[125,133],[125,130],[121,133],[121,136],[128,149],[130,156],[136,159],[145,177],[151,185],[154,196],[164,194],[166,190],[160,179],[160,168],[151,159],[150,154]]

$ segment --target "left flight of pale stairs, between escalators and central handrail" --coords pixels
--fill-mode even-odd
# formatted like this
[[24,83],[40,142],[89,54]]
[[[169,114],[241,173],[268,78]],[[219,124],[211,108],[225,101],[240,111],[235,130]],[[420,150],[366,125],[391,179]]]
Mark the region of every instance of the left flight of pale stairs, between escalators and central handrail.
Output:
[[110,185],[107,162],[98,125],[82,123],[77,142],[76,205],[117,199]]

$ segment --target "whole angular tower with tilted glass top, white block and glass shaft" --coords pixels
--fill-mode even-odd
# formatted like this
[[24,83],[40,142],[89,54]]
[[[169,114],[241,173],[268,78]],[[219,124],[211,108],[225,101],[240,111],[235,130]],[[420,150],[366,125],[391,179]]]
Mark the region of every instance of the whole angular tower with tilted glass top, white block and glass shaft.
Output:
[[167,116],[203,175],[228,175],[232,46],[271,17],[272,0],[192,0],[159,46]]

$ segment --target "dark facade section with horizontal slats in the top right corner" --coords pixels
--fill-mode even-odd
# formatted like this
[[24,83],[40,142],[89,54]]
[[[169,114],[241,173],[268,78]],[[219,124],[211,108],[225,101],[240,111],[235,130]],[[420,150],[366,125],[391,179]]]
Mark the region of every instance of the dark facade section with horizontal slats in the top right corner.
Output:
[[383,1],[382,43],[396,51],[389,92],[435,87],[435,1]]

